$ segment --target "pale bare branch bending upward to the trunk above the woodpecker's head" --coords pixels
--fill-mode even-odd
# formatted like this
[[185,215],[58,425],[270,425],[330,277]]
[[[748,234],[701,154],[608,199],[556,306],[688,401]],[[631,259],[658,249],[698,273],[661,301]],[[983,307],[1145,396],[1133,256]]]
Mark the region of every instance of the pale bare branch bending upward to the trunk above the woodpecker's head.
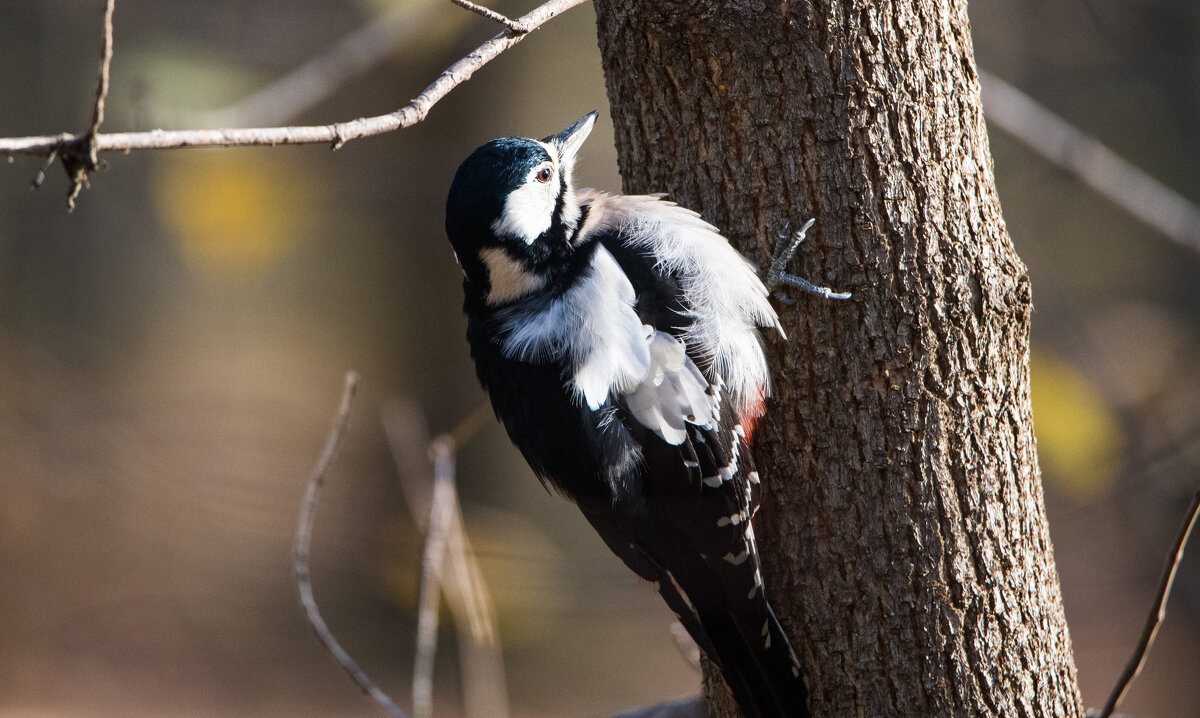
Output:
[[[586,0],[550,0],[516,20],[529,31],[540,28],[551,18],[577,6]],[[528,31],[505,30],[474,52],[462,58],[404,107],[372,118],[359,118],[344,122],[294,127],[247,127],[223,130],[151,130],[148,132],[114,132],[95,137],[96,151],[166,150],[193,146],[254,146],[277,144],[328,143],[334,149],[361,137],[373,137],[409,127],[420,122],[430,108],[451,90],[470,79],[476,70],[497,55],[521,42]],[[55,149],[76,145],[83,136],[50,134],[42,137],[0,138],[0,155],[35,155],[44,157]]]

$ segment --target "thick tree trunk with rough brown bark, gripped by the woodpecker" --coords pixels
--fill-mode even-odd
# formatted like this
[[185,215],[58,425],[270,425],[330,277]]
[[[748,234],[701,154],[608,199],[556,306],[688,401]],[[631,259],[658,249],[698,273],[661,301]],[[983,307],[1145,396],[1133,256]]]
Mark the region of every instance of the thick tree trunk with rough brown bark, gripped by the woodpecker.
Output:
[[625,191],[671,192],[760,267],[816,217],[793,270],[853,292],[780,306],[756,433],[815,714],[1082,716],[966,2],[595,6]]

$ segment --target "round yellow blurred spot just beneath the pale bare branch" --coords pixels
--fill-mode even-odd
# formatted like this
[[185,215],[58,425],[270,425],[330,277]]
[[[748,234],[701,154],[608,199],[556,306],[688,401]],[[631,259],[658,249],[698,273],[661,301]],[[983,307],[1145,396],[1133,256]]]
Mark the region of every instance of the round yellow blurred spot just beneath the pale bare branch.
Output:
[[263,271],[298,246],[314,216],[310,173],[294,160],[187,150],[164,155],[160,170],[158,211],[187,264],[203,274]]

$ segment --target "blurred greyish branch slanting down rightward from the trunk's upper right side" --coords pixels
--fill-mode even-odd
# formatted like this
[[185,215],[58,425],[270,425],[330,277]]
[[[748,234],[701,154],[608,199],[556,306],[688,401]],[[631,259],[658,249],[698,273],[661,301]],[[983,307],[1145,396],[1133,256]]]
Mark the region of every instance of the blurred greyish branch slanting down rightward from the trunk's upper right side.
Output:
[[979,71],[988,122],[1008,132],[1117,207],[1200,251],[1200,208],[998,77]]

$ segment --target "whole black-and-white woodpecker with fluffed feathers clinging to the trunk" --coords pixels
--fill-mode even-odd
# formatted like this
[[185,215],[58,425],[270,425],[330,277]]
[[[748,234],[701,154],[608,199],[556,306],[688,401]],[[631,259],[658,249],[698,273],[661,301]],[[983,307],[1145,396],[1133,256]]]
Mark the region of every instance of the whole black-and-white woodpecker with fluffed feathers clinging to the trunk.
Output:
[[658,588],[742,712],[808,716],[752,522],[749,441],[769,391],[758,327],[782,334],[779,319],[696,213],[572,189],[595,118],[488,142],[455,175],[446,234],[479,381],[536,475]]

